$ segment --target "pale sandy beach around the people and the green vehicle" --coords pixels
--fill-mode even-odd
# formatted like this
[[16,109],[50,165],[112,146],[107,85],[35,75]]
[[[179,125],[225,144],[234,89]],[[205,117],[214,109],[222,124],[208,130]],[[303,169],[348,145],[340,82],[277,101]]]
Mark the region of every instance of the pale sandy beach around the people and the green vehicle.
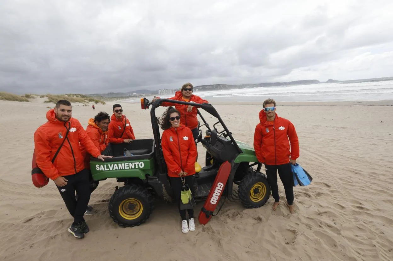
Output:
[[[262,102],[211,103],[235,139],[252,145]],[[152,138],[149,110],[121,104],[136,138]],[[294,214],[279,181],[276,211],[272,197],[245,209],[235,188],[195,232],[182,234],[176,205],[161,200],[146,223],[122,228],[108,215],[121,184],[108,179],[92,193],[98,213],[85,217],[90,232],[82,240],[67,232],[72,218],[53,181],[40,189],[31,182],[33,133],[46,122],[47,106],[54,105],[0,101],[0,260],[393,260],[393,101],[277,103],[277,114],[296,127],[298,162],[314,178],[294,188]],[[95,111],[73,104],[84,127],[99,111],[111,115],[112,103]],[[204,166],[203,157],[198,162]]]

